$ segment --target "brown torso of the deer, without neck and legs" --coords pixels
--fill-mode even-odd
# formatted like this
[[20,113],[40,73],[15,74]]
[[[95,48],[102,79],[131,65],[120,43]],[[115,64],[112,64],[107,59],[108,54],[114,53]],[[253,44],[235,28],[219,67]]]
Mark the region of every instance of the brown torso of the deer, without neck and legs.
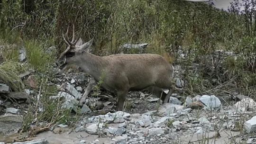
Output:
[[139,90],[152,85],[169,86],[172,66],[158,54],[117,54],[104,57],[108,61],[110,83],[125,83]]

